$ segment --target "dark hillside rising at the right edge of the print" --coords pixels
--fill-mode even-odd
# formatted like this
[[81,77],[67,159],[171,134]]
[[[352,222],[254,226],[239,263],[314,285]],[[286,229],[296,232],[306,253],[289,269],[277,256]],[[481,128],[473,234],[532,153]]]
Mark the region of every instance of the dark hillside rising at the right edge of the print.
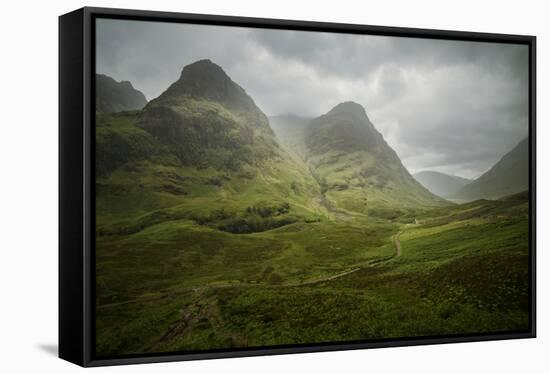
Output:
[[529,139],[520,141],[489,171],[461,188],[455,198],[464,201],[498,199],[529,189]]

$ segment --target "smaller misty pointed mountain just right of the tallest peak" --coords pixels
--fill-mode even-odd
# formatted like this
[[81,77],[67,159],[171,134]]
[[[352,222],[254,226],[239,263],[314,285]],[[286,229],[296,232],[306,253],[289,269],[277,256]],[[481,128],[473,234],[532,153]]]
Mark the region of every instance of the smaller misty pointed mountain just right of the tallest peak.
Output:
[[418,183],[354,102],[338,104],[305,131],[312,173],[337,207],[386,218],[444,205]]

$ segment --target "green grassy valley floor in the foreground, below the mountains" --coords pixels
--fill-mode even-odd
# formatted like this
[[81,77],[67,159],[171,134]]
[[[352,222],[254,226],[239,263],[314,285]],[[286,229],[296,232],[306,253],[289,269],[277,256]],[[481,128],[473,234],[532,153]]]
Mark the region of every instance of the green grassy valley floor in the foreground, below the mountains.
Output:
[[236,235],[175,220],[101,237],[98,353],[525,329],[525,214],[520,199],[421,225],[354,216]]

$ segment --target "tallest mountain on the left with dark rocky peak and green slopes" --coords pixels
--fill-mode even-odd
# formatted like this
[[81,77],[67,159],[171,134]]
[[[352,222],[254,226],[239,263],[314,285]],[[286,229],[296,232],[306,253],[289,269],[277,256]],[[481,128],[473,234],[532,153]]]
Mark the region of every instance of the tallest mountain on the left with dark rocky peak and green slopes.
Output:
[[139,112],[100,113],[96,139],[100,235],[177,220],[249,233],[323,216],[317,182],[209,60]]

